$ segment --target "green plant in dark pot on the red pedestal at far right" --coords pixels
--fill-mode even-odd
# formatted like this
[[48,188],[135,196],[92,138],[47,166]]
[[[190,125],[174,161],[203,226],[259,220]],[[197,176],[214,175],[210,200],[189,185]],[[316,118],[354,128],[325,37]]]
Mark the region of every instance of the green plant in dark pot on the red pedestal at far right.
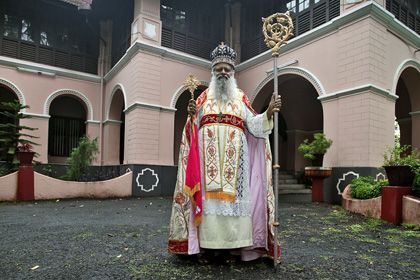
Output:
[[420,154],[410,145],[397,144],[385,151],[383,166],[391,186],[413,186],[419,173]]

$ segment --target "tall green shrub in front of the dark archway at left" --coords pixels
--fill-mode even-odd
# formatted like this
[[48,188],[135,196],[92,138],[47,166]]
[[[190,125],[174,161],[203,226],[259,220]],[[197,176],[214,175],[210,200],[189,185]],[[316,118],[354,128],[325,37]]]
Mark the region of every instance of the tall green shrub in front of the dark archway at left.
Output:
[[98,154],[98,139],[93,140],[84,136],[80,138],[79,145],[74,148],[67,159],[69,165],[63,179],[70,181],[80,181],[87,168],[92,165]]

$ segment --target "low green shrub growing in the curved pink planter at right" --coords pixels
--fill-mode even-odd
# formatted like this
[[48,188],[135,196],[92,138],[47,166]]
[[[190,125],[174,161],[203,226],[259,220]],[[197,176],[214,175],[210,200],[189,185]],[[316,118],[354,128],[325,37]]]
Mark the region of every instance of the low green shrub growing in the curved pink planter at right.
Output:
[[381,189],[386,185],[388,180],[375,181],[370,176],[360,176],[351,181],[350,194],[356,199],[374,198],[381,195]]

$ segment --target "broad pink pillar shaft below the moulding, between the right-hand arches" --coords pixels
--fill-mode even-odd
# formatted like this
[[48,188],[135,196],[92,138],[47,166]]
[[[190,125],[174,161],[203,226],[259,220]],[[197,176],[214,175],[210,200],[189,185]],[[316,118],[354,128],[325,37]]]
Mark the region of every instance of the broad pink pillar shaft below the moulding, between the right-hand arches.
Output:
[[395,98],[372,88],[321,102],[324,133],[333,140],[324,165],[381,166],[383,152],[394,143]]

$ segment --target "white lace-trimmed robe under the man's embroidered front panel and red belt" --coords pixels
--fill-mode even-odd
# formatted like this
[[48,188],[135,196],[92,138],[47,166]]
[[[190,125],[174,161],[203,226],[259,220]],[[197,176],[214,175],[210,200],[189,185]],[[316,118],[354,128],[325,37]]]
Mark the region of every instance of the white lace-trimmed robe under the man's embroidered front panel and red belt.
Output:
[[[254,115],[245,103],[242,102],[242,93],[238,92],[237,103],[240,104],[240,115],[243,117],[245,129],[255,137],[267,137],[273,128],[273,121],[267,119],[267,114]],[[215,98],[211,92],[204,105],[197,114],[197,124],[203,114],[206,112],[206,105],[210,103],[213,113],[222,112],[224,114],[231,113],[226,106],[221,106],[215,102]],[[222,107],[222,108],[220,108]],[[208,112],[207,112],[208,113]],[[225,135],[225,130],[229,126],[220,125],[218,123],[211,124],[218,131],[218,148],[219,153],[225,153],[225,142],[221,140]],[[200,161],[201,161],[201,185],[203,186],[203,217],[199,227],[198,237],[201,248],[208,249],[234,249],[251,246],[252,240],[252,219],[251,219],[251,198],[249,188],[249,157],[248,144],[245,132],[239,131],[240,148],[239,148],[239,166],[237,169],[236,199],[234,201],[226,201],[221,199],[206,199],[206,181],[205,181],[205,159],[203,147],[203,126],[199,130],[200,145]]]

